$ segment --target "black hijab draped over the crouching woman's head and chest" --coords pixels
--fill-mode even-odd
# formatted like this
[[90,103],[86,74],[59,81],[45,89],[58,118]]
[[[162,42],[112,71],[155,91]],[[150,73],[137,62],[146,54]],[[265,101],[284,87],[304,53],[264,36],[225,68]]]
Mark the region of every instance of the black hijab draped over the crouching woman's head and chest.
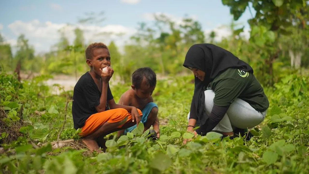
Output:
[[191,110],[195,109],[201,125],[205,124],[205,121],[208,119],[204,106],[204,90],[208,84],[228,68],[238,68],[253,73],[250,65],[239,60],[231,52],[206,43],[191,46],[186,54],[183,66],[186,68],[197,68],[205,72],[203,81],[194,77],[194,94],[192,100],[194,100],[195,108],[191,108]]

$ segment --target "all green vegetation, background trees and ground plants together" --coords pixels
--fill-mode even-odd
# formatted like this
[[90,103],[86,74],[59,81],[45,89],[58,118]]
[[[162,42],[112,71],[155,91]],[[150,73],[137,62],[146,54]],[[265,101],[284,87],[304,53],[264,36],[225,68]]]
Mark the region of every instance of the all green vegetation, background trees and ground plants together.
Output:
[[[153,25],[141,23],[124,52],[115,42],[105,43],[118,77],[112,85],[115,101],[130,88],[132,72],[151,67],[158,80],[153,93],[159,106],[160,138],[150,141],[143,125],[127,136],[110,138],[106,153],[90,153],[79,144],[71,114],[73,91],[46,85],[53,76],[78,77],[88,70],[83,31],[74,30],[70,43],[62,30],[50,52],[35,55],[27,36],[17,41],[17,52],[0,35],[0,171],[3,173],[309,173],[309,28],[306,0],[222,0],[238,20],[246,9],[256,12],[250,38],[233,20],[231,35],[216,41],[201,24],[184,16],[181,24],[165,15]],[[96,18],[89,18],[94,21]],[[89,19],[80,20],[87,24]],[[93,21],[92,21],[93,22]],[[223,139],[209,133],[183,145],[187,113],[193,94],[193,76],[182,66],[188,48],[208,42],[248,62],[265,87],[270,107],[265,120],[243,137]],[[21,72],[39,76],[18,81],[12,74],[20,61]],[[161,78],[159,78],[161,79]],[[61,94],[52,90],[58,88]],[[113,133],[115,135],[115,133]],[[56,148],[52,142],[74,139]]]

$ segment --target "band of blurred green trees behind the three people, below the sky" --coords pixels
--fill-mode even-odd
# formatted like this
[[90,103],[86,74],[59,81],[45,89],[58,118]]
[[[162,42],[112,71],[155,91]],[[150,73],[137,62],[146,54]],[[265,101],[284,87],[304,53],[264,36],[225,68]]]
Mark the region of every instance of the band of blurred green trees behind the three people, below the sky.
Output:
[[[208,42],[221,46],[246,62],[256,70],[256,76],[264,85],[278,82],[277,75],[283,68],[307,68],[309,65],[309,29],[307,0],[222,0],[230,7],[234,20],[238,20],[247,9],[252,12],[250,38],[244,37],[243,26],[235,24],[225,26],[230,30],[222,40],[215,38],[218,33],[205,33],[201,24],[188,16],[176,23],[166,15],[156,15],[153,23],[140,23],[135,33],[125,44],[123,51],[115,45],[108,45],[112,67],[118,71],[115,76],[129,81],[132,72],[143,66],[149,66],[160,75],[188,73],[181,65],[188,48],[194,43]],[[255,15],[253,16],[253,12]],[[101,14],[102,15],[102,14]],[[81,19],[82,25],[102,21],[102,16]],[[67,74],[78,78],[87,71],[84,50],[86,43],[83,30],[76,27],[75,39],[70,43],[59,30],[59,42],[48,53],[35,55],[28,44],[27,36],[21,35],[17,41],[17,52],[12,55],[11,46],[5,44],[0,36],[0,62],[4,70],[13,71],[21,60],[22,72],[41,74]],[[102,33],[103,34],[103,33]],[[121,37],[121,36],[120,36]]]

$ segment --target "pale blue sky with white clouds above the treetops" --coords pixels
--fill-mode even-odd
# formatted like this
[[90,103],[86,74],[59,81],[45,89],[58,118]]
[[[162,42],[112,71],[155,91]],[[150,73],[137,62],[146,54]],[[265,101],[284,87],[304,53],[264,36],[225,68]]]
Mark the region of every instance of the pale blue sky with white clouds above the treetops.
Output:
[[[227,29],[218,29],[228,25],[232,20],[229,7],[223,6],[221,0],[11,0],[2,1],[0,6],[0,32],[7,42],[16,44],[19,34],[24,33],[36,52],[50,50],[59,40],[57,30],[66,23],[76,24],[78,17],[86,12],[104,11],[106,20],[101,24],[84,26],[87,41],[109,42],[115,40],[121,46],[134,34],[139,22],[151,23],[153,13],[164,13],[175,21],[187,14],[198,20],[207,33],[218,31],[218,37],[228,34]],[[251,18],[248,10],[237,21],[249,29],[247,20]],[[124,32],[125,36],[96,37],[95,32]],[[72,28],[66,31],[70,41],[74,39]],[[107,43],[108,44],[108,43]]]

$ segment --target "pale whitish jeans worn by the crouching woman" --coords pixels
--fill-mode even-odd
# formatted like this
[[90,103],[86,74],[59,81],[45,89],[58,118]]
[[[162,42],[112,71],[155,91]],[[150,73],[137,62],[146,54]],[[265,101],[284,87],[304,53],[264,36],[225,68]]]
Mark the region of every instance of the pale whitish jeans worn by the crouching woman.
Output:
[[[209,89],[205,90],[204,93],[206,113],[209,115],[214,106],[214,91]],[[233,132],[232,127],[253,128],[265,119],[266,112],[256,111],[248,102],[236,98],[213,131]],[[188,113],[188,120],[189,117],[190,112]]]

